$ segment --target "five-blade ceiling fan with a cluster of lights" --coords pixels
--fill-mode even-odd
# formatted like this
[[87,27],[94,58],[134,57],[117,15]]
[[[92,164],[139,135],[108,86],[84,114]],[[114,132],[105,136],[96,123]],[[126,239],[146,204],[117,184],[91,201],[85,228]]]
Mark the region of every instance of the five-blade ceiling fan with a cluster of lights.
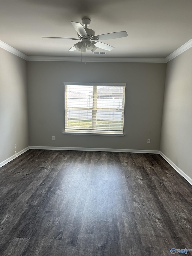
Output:
[[108,39],[122,38],[122,37],[128,36],[126,31],[95,36],[95,31],[87,28],[91,23],[91,20],[87,18],[82,19],[82,24],[85,26],[85,28],[79,22],[71,21],[71,23],[73,25],[73,28],[77,32],[78,38],[63,38],[63,37],[43,37],[43,38],[77,40],[79,42],[76,43],[73,47],[71,47],[68,51],[77,50],[77,51],[81,51],[82,53],[85,53],[87,49],[87,50],[91,50],[91,52],[93,53],[98,47],[107,51],[111,51],[114,49],[113,46],[98,42],[97,40],[108,40]]

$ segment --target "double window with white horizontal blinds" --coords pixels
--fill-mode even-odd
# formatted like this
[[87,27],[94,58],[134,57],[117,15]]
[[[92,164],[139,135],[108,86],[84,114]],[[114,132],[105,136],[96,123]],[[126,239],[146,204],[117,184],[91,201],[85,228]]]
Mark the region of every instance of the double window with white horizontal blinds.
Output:
[[123,134],[125,84],[64,83],[65,133]]

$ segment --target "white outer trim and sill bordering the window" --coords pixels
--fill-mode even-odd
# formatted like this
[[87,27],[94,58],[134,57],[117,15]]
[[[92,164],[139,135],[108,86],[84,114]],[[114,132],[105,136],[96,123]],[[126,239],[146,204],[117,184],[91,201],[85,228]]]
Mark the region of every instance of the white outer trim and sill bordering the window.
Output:
[[[67,85],[79,85],[79,86],[126,86],[126,83],[77,83],[77,82],[63,82],[64,85],[64,99],[65,99],[65,86]],[[124,94],[125,95],[125,94]],[[124,99],[124,104],[125,104],[125,99]],[[66,102],[64,100],[64,110],[66,107]],[[125,112],[125,106],[124,106],[124,112]],[[124,119],[125,113],[123,113],[122,118]],[[124,130],[124,122],[123,122],[123,127],[122,130]],[[103,136],[124,136],[125,133],[122,131],[122,133],[118,132],[97,132],[97,131],[92,131],[92,132],[86,132],[86,131],[64,131],[62,132],[63,134],[67,135],[103,135]]]

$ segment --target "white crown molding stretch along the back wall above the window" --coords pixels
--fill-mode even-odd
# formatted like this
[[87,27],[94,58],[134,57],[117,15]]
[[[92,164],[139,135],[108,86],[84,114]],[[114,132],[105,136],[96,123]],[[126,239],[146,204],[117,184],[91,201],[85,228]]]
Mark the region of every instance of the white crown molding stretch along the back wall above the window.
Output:
[[[28,56],[27,60],[30,61],[75,61],[85,62],[85,57],[52,57],[52,56]],[[163,62],[166,63],[164,58],[103,58],[103,57],[87,57],[86,62]]]

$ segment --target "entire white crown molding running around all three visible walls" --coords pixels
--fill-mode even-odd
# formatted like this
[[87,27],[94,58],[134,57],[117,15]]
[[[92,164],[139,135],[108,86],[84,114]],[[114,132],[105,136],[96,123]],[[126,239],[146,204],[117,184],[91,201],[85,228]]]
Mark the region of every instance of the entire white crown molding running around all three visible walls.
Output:
[[[0,41],[0,47],[14,55],[29,61],[74,61],[74,62],[83,62],[85,61],[85,57],[53,57],[53,56],[27,56],[24,53],[16,50],[10,45]],[[188,50],[192,47],[192,39],[190,39],[187,43],[179,47],[176,51],[171,53],[166,58],[103,58],[103,57],[87,57],[86,62],[149,62],[149,63],[167,63],[170,60],[177,57],[179,54]]]

